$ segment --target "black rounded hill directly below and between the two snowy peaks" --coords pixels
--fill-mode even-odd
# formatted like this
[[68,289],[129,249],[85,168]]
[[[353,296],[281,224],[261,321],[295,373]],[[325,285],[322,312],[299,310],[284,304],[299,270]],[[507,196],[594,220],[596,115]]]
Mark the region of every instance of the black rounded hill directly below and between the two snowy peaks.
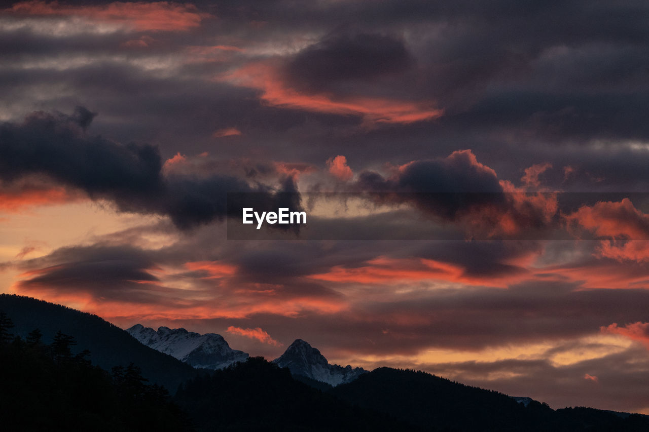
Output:
[[262,357],[192,379],[174,401],[199,432],[417,430],[295,381]]

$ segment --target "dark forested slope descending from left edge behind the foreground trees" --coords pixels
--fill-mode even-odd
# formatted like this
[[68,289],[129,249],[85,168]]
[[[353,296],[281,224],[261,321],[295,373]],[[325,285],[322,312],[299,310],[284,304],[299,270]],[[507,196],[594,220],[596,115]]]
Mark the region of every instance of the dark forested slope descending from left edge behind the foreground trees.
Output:
[[93,364],[110,370],[134,363],[151,383],[164,385],[172,394],[182,381],[197,373],[190,365],[144,346],[126,331],[90,313],[12,294],[0,294],[0,311],[14,322],[11,331],[16,336],[24,339],[38,328],[43,342],[49,344],[60,330],[77,341],[75,353],[90,350]]

